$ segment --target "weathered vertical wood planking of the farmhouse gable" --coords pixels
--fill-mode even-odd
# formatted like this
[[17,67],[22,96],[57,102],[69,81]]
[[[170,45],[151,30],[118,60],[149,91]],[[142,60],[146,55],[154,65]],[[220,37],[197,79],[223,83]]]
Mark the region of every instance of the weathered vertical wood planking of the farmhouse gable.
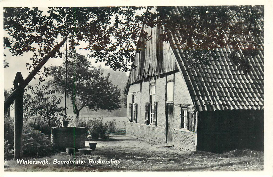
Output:
[[176,58],[170,44],[162,42],[158,38],[160,29],[157,27],[147,28],[147,26],[144,26],[143,29],[148,33],[148,36],[152,36],[152,40],[146,41],[146,48],[136,53],[134,60],[136,68],[132,69],[128,84],[177,70]]

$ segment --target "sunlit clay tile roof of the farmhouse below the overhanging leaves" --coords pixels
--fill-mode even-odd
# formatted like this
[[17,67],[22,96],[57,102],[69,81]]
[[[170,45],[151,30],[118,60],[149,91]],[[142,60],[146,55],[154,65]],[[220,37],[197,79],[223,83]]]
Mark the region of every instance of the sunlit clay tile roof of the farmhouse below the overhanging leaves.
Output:
[[[176,8],[173,13],[178,13],[179,9]],[[236,22],[237,20],[232,21],[231,25]],[[174,39],[174,44],[179,43],[177,37],[179,38],[180,34],[177,31],[175,33],[170,31],[170,36]],[[262,46],[259,55],[249,58],[252,70],[248,74],[239,71],[237,66],[229,60],[228,53],[233,50],[231,46],[216,49],[218,61],[213,61],[211,58],[210,65],[199,64],[194,69],[189,68],[188,64],[182,64],[182,61],[187,62],[187,55],[184,55],[182,50],[177,50],[177,45],[171,43],[171,47],[174,51],[179,51],[180,55],[174,53],[198,111],[263,109],[264,51]]]

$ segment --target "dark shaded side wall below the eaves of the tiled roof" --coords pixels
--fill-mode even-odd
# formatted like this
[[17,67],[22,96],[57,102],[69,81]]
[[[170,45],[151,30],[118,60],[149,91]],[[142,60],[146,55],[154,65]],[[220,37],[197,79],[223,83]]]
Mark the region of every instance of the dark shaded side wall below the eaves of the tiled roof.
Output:
[[263,150],[263,110],[199,112],[197,126],[197,150]]

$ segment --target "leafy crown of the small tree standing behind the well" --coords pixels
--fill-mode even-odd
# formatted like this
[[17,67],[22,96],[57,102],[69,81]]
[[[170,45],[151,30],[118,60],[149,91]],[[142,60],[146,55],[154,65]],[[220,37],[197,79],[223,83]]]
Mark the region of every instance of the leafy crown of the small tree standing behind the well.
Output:
[[[120,108],[120,89],[103,76],[103,70],[90,65],[85,56],[74,51],[67,54],[67,93],[72,102],[75,97],[75,111],[87,107],[89,110],[115,110]],[[60,93],[65,92],[65,62],[63,66],[52,66],[52,84]],[[74,89],[75,83],[75,89]]]

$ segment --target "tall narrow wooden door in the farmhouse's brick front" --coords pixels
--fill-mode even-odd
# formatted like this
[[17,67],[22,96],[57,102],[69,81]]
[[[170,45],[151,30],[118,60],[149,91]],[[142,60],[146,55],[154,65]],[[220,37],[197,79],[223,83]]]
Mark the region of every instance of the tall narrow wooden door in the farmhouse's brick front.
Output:
[[167,124],[167,143],[173,144],[173,135],[174,135],[174,116],[173,116],[173,103],[167,103],[166,105],[167,114],[166,114],[166,124]]

